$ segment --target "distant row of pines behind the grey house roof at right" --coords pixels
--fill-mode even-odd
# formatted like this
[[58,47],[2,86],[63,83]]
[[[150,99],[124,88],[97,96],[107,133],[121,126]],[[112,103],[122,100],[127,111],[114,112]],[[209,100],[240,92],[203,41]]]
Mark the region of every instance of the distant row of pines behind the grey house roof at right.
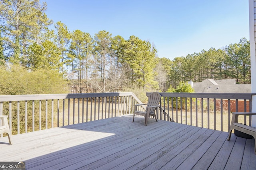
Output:
[[[159,82],[162,80],[161,89],[170,86],[175,88],[179,82],[190,80],[202,82],[207,78],[235,79],[237,84],[251,83],[250,43],[246,38],[222,49],[210,48],[208,51],[202,50],[186,57],[177,57],[173,61],[166,58],[159,61],[158,66],[164,66],[158,78]],[[166,88],[164,82],[169,83]]]

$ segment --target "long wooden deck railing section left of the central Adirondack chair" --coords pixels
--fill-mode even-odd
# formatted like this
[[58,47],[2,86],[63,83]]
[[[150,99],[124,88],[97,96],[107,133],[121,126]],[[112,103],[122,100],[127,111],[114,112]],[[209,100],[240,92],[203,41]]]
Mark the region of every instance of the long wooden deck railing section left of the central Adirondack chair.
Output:
[[9,116],[14,135],[132,114],[134,104],[142,102],[132,92],[5,95],[0,115]]

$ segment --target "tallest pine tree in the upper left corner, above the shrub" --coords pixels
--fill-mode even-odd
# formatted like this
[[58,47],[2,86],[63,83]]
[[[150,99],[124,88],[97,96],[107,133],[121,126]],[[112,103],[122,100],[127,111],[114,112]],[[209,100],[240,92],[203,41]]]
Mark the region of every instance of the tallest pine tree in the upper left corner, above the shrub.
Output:
[[52,24],[45,10],[46,3],[41,5],[39,0],[0,1],[0,27],[3,27],[8,62],[19,64],[31,40],[36,39],[45,26]]

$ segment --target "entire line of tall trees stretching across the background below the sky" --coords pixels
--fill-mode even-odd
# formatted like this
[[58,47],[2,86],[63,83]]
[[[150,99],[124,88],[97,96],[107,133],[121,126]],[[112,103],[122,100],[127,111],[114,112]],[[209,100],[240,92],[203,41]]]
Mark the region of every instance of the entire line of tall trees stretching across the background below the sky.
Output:
[[[166,92],[179,82],[206,78],[250,83],[250,45],[239,43],[211,48],[174,60],[160,58],[149,41],[129,39],[102,30],[69,31],[47,18],[39,0],[0,1],[0,65],[20,65],[33,72],[58,72],[79,92],[119,92],[127,89]],[[54,29],[50,29],[50,25]]]

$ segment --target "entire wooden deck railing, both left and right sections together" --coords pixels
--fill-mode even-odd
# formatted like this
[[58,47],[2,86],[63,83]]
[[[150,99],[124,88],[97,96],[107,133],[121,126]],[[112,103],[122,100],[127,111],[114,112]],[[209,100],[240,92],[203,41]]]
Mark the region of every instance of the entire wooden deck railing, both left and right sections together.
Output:
[[[146,93],[148,96],[150,93]],[[157,118],[228,131],[231,112],[250,112],[254,94],[160,93]],[[0,115],[9,115],[12,134],[132,114],[142,102],[132,93],[0,96]],[[140,110],[145,109],[141,107]],[[251,117],[240,117],[251,125]],[[1,135],[2,136],[2,135]]]

